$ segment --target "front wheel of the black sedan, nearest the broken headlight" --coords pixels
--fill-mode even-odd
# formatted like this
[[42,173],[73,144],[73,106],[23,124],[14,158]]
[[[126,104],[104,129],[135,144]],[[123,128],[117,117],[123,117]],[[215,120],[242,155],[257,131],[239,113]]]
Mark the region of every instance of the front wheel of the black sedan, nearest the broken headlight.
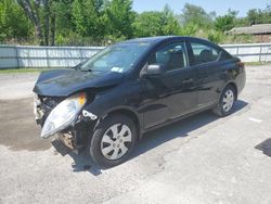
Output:
[[128,160],[137,141],[133,120],[125,115],[111,115],[93,131],[87,153],[101,168],[117,166]]

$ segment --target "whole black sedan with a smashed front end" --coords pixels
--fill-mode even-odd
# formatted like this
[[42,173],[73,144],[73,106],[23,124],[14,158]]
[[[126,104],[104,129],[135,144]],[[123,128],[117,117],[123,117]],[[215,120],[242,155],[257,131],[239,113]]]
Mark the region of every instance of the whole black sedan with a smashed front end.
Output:
[[212,110],[232,113],[244,64],[191,37],[132,39],[69,69],[43,72],[34,88],[42,138],[86,150],[102,167],[126,161],[142,135]]

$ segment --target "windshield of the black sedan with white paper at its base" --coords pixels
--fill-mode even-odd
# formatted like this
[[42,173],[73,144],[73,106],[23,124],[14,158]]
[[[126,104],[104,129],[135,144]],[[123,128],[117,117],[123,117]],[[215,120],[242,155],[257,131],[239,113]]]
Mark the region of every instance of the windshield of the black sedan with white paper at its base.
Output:
[[81,71],[125,73],[134,65],[149,46],[149,42],[134,42],[105,48],[83,63]]

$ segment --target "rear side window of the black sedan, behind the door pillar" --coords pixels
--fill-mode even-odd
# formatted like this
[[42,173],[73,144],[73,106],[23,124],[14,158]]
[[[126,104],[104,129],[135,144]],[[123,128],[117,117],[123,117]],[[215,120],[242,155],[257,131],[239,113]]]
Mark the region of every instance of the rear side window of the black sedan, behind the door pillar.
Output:
[[204,64],[208,62],[217,61],[219,58],[219,50],[197,42],[191,42],[193,56],[191,59],[192,65]]

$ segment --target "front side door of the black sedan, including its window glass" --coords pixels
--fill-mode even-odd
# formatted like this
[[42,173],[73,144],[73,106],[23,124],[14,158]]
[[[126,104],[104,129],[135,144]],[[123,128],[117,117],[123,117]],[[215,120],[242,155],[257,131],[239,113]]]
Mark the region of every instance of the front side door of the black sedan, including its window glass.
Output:
[[188,66],[184,42],[158,48],[150,55],[146,66],[150,64],[163,64],[167,72],[141,79],[145,129],[191,113],[196,107],[196,71]]

